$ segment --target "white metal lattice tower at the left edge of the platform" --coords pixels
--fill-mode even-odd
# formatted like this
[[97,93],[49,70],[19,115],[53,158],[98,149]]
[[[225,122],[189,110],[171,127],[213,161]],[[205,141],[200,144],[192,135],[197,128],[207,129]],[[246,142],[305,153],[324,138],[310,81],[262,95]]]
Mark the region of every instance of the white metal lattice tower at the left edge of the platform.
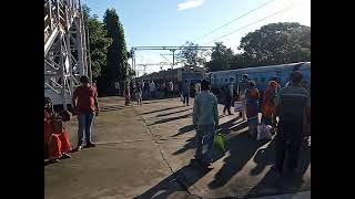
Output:
[[84,30],[80,0],[44,0],[44,96],[65,109],[88,75]]

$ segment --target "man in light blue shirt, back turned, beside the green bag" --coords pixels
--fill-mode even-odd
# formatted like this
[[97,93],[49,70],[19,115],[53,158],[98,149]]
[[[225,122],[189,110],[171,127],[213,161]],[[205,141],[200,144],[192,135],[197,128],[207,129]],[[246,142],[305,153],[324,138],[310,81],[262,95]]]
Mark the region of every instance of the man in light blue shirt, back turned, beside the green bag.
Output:
[[[217,98],[210,93],[210,83],[201,82],[201,94],[195,97],[193,106],[193,125],[196,127],[196,154],[195,159],[205,166],[213,160],[213,140],[215,129],[219,126]],[[203,138],[205,137],[205,140]],[[203,144],[207,145],[207,151],[203,155]]]

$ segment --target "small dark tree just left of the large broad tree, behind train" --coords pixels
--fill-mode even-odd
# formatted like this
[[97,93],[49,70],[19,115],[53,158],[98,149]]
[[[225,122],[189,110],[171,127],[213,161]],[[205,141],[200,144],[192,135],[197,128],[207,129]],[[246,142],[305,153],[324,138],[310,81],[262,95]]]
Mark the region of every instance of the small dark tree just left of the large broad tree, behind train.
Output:
[[225,71],[230,69],[232,59],[232,49],[226,48],[222,42],[216,42],[212,49],[211,61],[205,66],[207,71]]

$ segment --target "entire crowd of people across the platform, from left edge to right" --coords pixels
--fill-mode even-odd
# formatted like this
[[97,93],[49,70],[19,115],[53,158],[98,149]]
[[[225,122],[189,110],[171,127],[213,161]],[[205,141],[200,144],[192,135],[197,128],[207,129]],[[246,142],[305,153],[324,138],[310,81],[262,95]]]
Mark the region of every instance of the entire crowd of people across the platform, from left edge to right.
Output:
[[[239,82],[239,91],[234,90],[234,78],[224,87],[225,106],[223,115],[233,115],[231,105],[233,101],[242,103],[243,108],[239,115],[247,122],[248,134],[252,138],[257,135],[257,126],[265,124],[272,126],[275,135],[275,170],[282,172],[282,168],[287,154],[288,169],[296,172],[300,148],[303,139],[310,137],[311,124],[311,95],[302,73],[298,71],[291,73],[291,82],[281,87],[276,80],[271,80],[268,86],[263,93],[262,118],[258,119],[260,91],[256,83],[250,81],[247,75],[243,75]],[[95,147],[91,140],[91,126],[93,117],[99,116],[100,107],[95,86],[89,83],[88,76],[80,78],[79,86],[72,98],[73,115],[78,115],[78,145],[71,148],[69,133],[64,123],[70,121],[71,114],[67,111],[54,112],[50,98],[44,97],[44,148],[47,158],[50,163],[58,163],[62,158],[70,158],[69,153],[84,148]],[[165,97],[173,97],[174,84],[172,81],[165,81],[161,84],[160,91]],[[134,96],[136,105],[142,106],[142,96],[156,97],[158,86],[151,82],[126,82],[124,85],[125,105],[130,105],[131,97]],[[181,86],[180,93],[182,103],[189,106],[191,83],[185,80]],[[209,166],[213,161],[213,142],[215,132],[219,128],[217,98],[211,92],[210,82],[203,80],[195,84],[195,98],[193,105],[193,125],[196,128],[196,154],[195,159]],[[306,135],[305,135],[306,133]],[[206,153],[202,153],[203,145],[207,145]]]

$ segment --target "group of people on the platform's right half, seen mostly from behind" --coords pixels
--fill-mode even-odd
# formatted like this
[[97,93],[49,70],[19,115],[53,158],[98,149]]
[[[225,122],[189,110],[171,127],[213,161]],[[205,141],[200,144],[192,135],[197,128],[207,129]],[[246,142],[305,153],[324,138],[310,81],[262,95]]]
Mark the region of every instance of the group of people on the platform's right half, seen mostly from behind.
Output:
[[[276,80],[271,80],[263,93],[262,118],[258,119],[260,91],[256,83],[243,75],[239,83],[239,92],[233,88],[234,78],[224,87],[225,112],[231,113],[232,98],[242,102],[243,109],[240,116],[247,121],[248,133],[252,138],[257,135],[257,125],[271,125],[275,135],[275,164],[277,172],[283,172],[283,165],[287,154],[287,168],[292,172],[300,172],[297,169],[298,155],[302,142],[305,137],[311,139],[311,95],[307,84],[301,72],[295,71],[290,75],[291,82],[281,87]],[[201,82],[201,94],[195,96],[193,107],[193,125],[196,128],[196,154],[195,160],[209,166],[213,161],[213,140],[219,128],[217,98],[210,92],[210,83]],[[185,95],[184,95],[185,96]],[[189,104],[189,100],[184,100]],[[278,118],[278,119],[277,119]],[[205,139],[203,140],[203,137]],[[202,154],[202,146],[207,145],[207,150]]]

